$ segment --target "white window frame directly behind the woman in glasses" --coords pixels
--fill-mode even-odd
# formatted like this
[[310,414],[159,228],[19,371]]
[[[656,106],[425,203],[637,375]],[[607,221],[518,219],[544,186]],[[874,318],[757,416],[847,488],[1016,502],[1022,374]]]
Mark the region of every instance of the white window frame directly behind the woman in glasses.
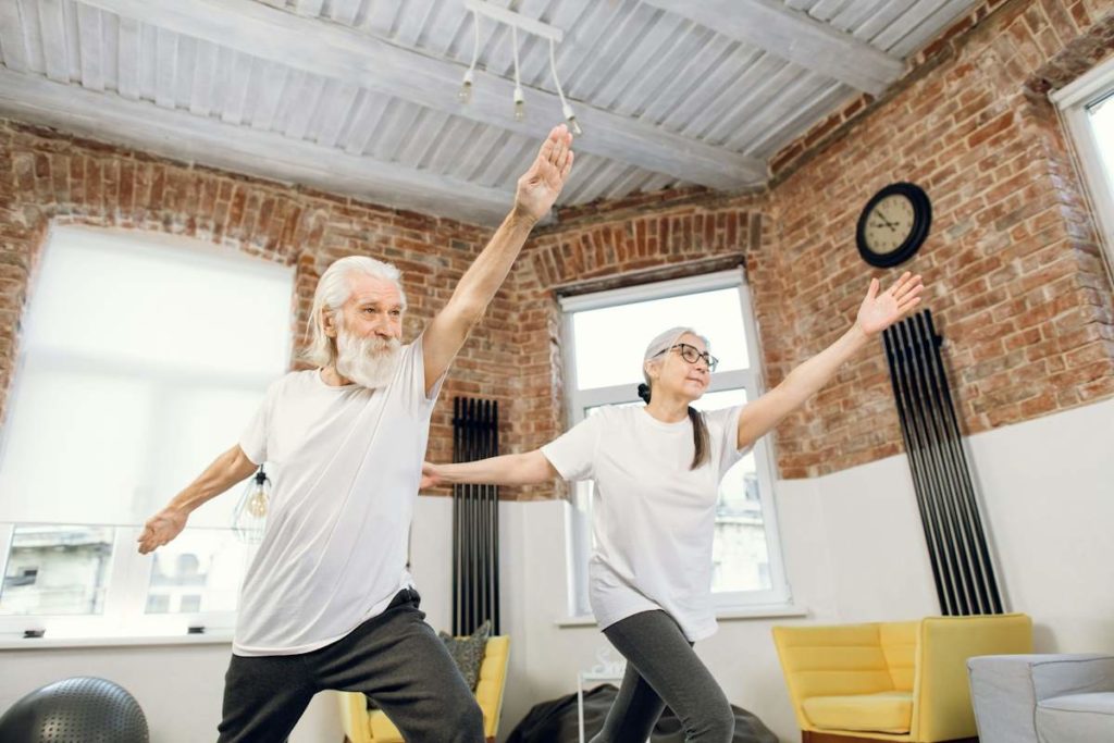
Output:
[[[573,323],[573,315],[575,313],[725,289],[734,289],[739,292],[743,327],[746,333],[747,358],[751,365],[745,370],[722,371],[712,374],[706,393],[743,389],[746,392],[746,399],[753,401],[764,392],[765,387],[762,375],[758,321],[754,317],[750,290],[746,285],[742,266],[697,276],[558,297],[561,312],[565,362],[565,413],[569,422],[569,428],[584,420],[584,411],[587,408],[638,401],[635,385],[631,383],[589,390],[580,390],[578,388],[576,381],[576,341]],[[760,439],[755,443],[753,452],[759,476],[760,501],[762,504],[771,587],[765,590],[714,593],[713,600],[716,613],[720,615],[761,606],[783,606],[790,604],[792,599],[778,526],[774,497],[776,467],[774,465],[773,442],[770,437]],[[584,486],[574,485],[570,487],[582,488]],[[577,498],[578,496],[573,496],[574,500]],[[568,610],[571,616],[586,616],[592,613],[587,600],[587,570],[592,540],[590,515],[573,502],[566,504],[565,507],[565,535]]]

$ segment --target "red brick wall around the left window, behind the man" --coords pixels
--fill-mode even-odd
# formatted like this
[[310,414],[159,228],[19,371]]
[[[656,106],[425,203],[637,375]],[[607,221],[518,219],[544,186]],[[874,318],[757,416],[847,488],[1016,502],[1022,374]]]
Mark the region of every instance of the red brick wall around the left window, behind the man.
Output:
[[[409,340],[444,305],[491,232],[0,120],[0,414],[19,319],[51,224],[185,235],[296,266],[296,350],[306,338],[317,277],[332,261],[365,254],[402,270]],[[515,397],[507,372],[517,361],[508,342],[511,299],[509,291],[496,297],[461,351],[433,416],[431,458],[451,458],[453,395]],[[214,456],[227,444],[214,441]]]

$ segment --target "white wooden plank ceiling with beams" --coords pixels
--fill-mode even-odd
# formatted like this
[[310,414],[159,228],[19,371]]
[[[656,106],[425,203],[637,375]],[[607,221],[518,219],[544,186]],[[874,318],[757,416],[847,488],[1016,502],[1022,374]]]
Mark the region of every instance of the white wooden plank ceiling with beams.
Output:
[[[585,129],[560,205],[762,184],[766,160],[976,0],[495,0],[565,31]],[[463,0],[0,0],[0,114],[489,224],[561,120],[543,39]]]

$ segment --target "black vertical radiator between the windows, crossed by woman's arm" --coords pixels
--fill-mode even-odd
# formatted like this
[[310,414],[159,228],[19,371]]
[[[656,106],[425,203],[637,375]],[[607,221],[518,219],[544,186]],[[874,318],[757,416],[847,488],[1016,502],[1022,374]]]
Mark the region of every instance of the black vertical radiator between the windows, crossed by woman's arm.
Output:
[[[452,400],[452,461],[499,453],[499,403]],[[470,635],[491,620],[499,634],[499,488],[452,486],[452,634]]]

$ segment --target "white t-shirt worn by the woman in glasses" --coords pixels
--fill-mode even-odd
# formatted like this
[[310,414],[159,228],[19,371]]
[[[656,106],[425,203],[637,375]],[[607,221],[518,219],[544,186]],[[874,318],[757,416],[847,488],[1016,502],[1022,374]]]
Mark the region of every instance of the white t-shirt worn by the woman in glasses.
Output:
[[712,538],[720,480],[736,449],[742,407],[704,414],[710,461],[690,469],[692,422],[644,407],[605,407],[541,448],[566,480],[594,480],[588,599],[600,629],[662,609],[691,642],[715,633]]

